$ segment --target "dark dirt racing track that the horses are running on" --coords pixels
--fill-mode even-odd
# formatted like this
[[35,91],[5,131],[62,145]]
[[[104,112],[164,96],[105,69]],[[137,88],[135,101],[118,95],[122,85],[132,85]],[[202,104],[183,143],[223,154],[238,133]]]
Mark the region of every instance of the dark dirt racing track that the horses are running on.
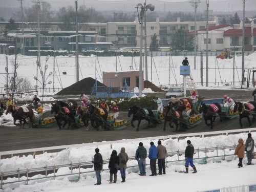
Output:
[[[199,94],[204,98],[222,97],[223,94],[228,94],[231,98],[239,101],[252,100],[253,90],[198,90]],[[159,95],[164,98],[165,93],[151,93],[151,95]],[[66,96],[67,97],[67,96]],[[70,98],[70,96],[69,96]],[[84,126],[75,130],[58,130],[56,126],[45,129],[24,129],[20,130],[19,127],[0,127],[0,151],[23,150],[27,148],[48,147],[57,145],[80,144],[89,142],[101,142],[121,139],[155,137],[164,135],[177,134],[174,129],[170,129],[166,125],[166,131],[163,132],[163,123],[158,124],[156,127],[147,128],[147,122],[142,121],[140,131],[136,132],[131,126],[131,119],[127,117],[127,112],[120,112],[120,119],[126,119],[127,124],[122,130],[118,131],[100,131],[95,130],[85,131]],[[252,118],[251,118],[252,120]],[[244,128],[248,127],[246,119],[242,119]],[[135,121],[137,125],[137,121]],[[256,122],[252,121],[252,126],[256,127]],[[223,122],[216,119],[214,129],[212,131],[233,130],[240,129],[239,118],[226,119]],[[192,129],[182,130],[182,133],[199,133],[210,132],[208,126],[204,121],[196,125]]]

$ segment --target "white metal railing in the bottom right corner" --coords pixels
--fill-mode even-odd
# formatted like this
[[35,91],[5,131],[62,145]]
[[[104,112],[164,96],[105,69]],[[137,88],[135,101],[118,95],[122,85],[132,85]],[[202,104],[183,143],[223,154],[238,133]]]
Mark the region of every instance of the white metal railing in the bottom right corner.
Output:
[[197,192],[255,192],[256,191],[256,184],[252,185],[241,185],[235,187],[223,187],[220,189],[214,190],[202,190]]

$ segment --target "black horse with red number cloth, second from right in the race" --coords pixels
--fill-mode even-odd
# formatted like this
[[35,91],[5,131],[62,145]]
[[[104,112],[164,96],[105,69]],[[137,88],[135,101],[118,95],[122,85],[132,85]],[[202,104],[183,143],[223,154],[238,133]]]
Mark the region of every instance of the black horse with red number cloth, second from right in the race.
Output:
[[[206,105],[204,103],[201,104],[199,113],[203,113],[204,121],[207,126],[210,126],[210,129],[213,129],[213,124],[216,119],[216,113],[220,116],[220,121],[222,121],[222,112],[220,103],[211,103]],[[210,123],[207,121],[210,120]]]

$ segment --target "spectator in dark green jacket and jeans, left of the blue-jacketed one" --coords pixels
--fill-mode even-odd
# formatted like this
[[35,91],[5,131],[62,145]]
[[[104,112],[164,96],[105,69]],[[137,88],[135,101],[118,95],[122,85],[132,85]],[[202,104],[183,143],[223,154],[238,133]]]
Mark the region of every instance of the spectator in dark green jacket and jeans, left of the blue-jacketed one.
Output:
[[143,146],[143,143],[140,142],[136,150],[135,159],[138,161],[138,166],[140,169],[140,176],[146,175],[146,148]]

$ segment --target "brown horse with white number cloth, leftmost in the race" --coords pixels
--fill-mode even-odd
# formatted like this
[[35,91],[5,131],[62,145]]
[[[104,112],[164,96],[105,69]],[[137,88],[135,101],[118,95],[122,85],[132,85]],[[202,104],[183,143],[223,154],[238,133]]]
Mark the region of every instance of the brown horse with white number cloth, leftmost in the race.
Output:
[[[13,117],[13,124],[16,126],[20,126],[20,129],[24,128],[25,123],[27,123],[26,119],[30,120],[29,127],[33,126],[33,122],[35,121],[35,114],[33,110],[29,106],[18,106],[15,104],[11,104],[8,106],[6,110],[6,115],[8,113],[12,114]],[[16,120],[19,120],[19,124],[16,123]],[[22,124],[23,121],[23,124]]]

